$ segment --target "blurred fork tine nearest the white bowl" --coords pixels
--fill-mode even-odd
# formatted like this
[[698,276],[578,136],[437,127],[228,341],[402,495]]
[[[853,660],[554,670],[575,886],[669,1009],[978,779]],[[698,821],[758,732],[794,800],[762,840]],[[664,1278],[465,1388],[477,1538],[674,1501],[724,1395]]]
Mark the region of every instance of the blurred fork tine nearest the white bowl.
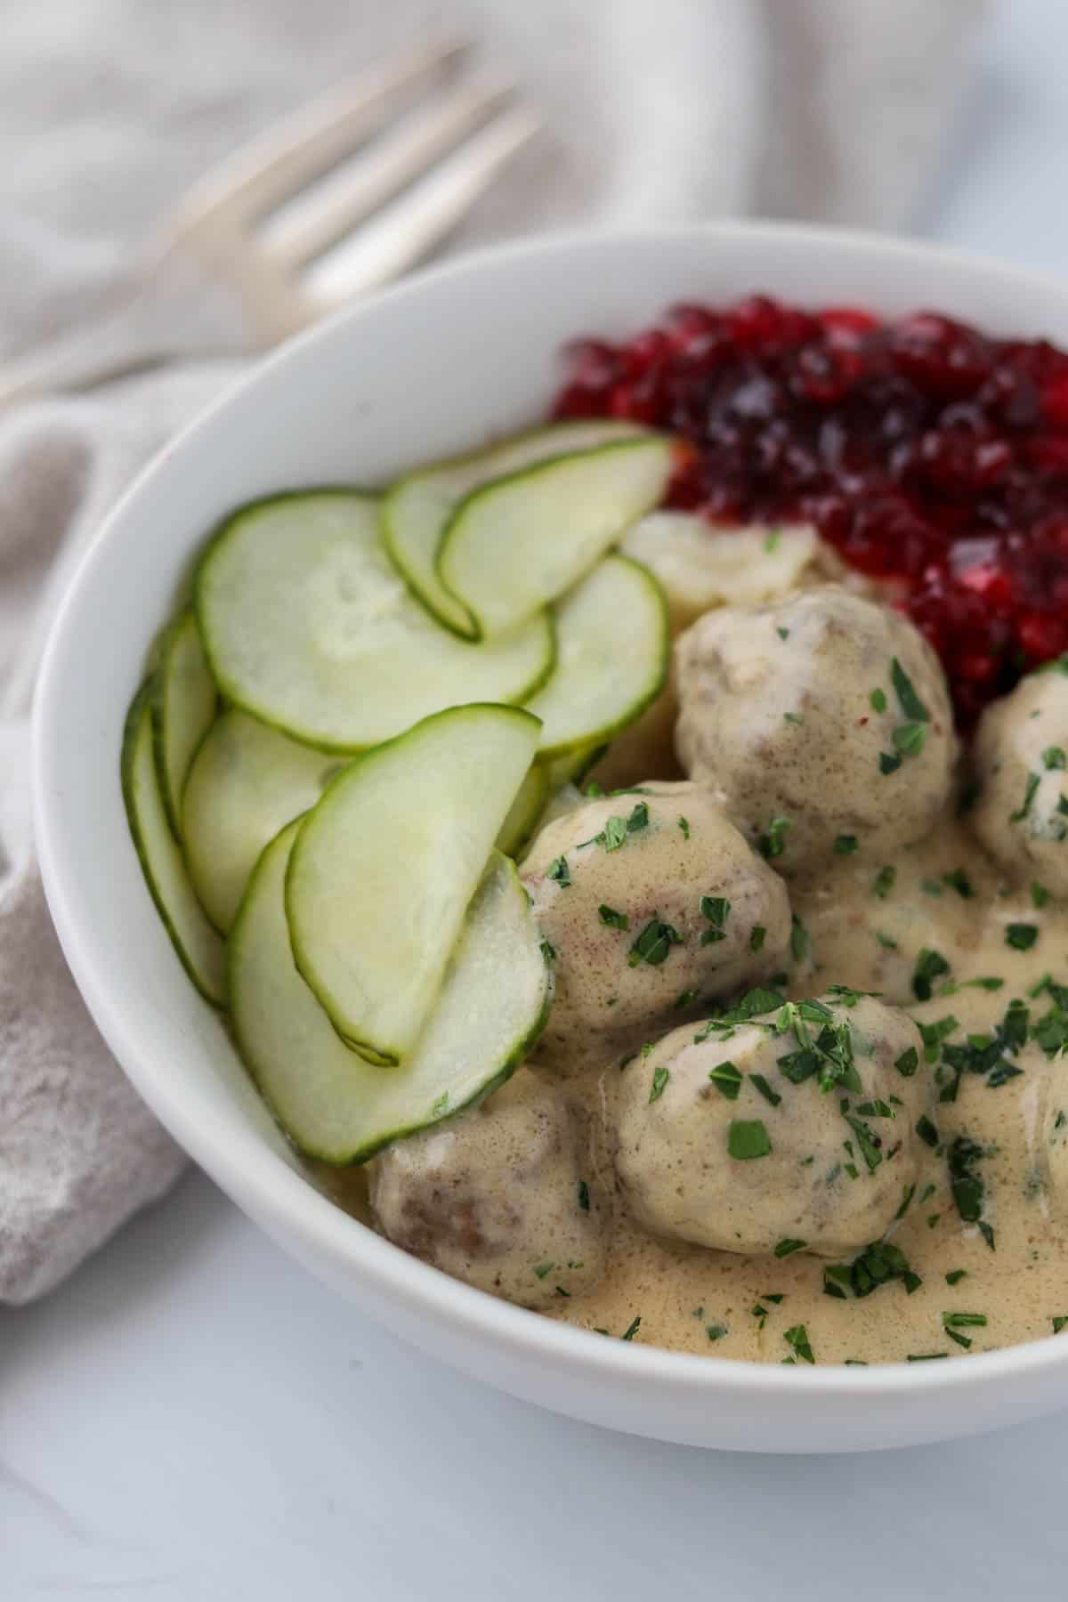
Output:
[[325,309],[400,277],[463,219],[540,131],[541,119],[528,106],[496,117],[410,195],[315,263],[307,274],[309,295]]

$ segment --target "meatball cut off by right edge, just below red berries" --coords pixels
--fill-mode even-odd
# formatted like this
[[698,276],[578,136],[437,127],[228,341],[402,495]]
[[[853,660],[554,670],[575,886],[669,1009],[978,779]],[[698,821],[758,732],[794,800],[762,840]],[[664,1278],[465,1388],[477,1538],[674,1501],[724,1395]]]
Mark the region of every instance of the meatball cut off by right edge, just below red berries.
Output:
[[1068,897],[1068,676],[1055,666],[1020,679],[983,713],[972,764],[972,827],[1015,879]]

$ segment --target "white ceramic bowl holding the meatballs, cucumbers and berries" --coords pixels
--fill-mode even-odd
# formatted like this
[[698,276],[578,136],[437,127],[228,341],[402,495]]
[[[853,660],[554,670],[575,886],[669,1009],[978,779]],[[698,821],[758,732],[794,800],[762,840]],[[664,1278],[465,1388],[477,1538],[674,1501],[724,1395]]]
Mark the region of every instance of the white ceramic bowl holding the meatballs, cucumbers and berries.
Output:
[[237,501],[373,484],[536,421],[559,348],[751,290],[933,306],[1068,344],[1068,290],[898,240],[767,224],[541,239],[410,279],[288,344],[187,429],[86,553],[35,708],[37,836],[70,969],[120,1064],[251,1218],[397,1334],[576,1418],[753,1451],[974,1434],[1068,1402],[1068,1338],[950,1363],[815,1368],[664,1352],[552,1323],[405,1256],[299,1173],[149,900],[118,791],[123,716],[205,533]]

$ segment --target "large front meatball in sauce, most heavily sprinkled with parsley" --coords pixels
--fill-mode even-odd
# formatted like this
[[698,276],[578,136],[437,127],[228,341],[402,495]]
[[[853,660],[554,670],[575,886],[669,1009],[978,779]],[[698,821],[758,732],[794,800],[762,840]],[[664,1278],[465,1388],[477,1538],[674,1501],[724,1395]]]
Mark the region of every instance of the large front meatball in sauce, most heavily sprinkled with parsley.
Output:
[[624,1069],[615,1165],[629,1213],[746,1256],[877,1240],[916,1181],[919,1030],[857,992],[732,1016],[676,1028]]

